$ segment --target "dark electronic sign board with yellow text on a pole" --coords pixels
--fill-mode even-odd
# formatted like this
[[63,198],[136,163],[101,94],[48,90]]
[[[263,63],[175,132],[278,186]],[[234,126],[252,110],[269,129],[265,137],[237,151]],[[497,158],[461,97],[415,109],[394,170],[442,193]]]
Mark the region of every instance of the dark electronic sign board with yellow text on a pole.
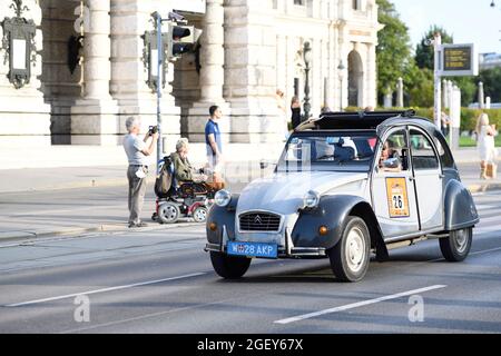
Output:
[[474,44],[443,44],[441,50],[441,77],[479,75],[479,56]]

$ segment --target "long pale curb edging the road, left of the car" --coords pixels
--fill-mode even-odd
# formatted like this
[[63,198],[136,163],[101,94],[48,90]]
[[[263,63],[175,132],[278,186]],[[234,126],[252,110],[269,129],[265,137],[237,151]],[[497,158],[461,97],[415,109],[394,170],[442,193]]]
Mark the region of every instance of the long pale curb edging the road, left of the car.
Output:
[[[97,227],[88,227],[88,228],[68,228],[68,229],[61,229],[57,231],[43,231],[43,233],[30,233],[30,231],[13,231],[13,233],[6,233],[0,234],[0,244],[4,243],[36,243],[41,239],[48,238],[48,237],[67,237],[67,238],[76,238],[80,237],[84,234],[89,233],[126,233],[126,231],[157,231],[157,230],[169,230],[173,228],[179,228],[179,227],[193,227],[193,226],[200,226],[200,222],[180,222],[180,224],[173,224],[173,225],[163,225],[157,224],[150,225],[146,228],[141,229],[129,229],[126,224],[124,225],[100,225]],[[157,226],[158,225],[158,226]]]

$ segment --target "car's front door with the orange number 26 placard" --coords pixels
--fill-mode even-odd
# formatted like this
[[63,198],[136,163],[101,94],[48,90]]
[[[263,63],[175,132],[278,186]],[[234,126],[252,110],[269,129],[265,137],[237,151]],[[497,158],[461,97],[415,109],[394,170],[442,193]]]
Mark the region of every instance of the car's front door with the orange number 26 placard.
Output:
[[[385,169],[382,165],[384,144],[392,142],[401,161],[401,169]],[[414,177],[409,162],[409,139],[405,127],[386,134],[377,145],[372,172],[372,202],[383,237],[397,238],[418,233],[419,216],[415,201]]]

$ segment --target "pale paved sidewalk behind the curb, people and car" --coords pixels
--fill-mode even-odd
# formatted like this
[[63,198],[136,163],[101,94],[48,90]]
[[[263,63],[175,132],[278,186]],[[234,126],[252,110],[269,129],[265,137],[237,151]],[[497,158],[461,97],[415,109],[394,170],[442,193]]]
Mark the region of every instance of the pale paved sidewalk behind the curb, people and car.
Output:
[[[80,148],[81,151],[84,150]],[[120,155],[124,154],[120,151]],[[237,155],[246,157],[249,154],[237,151]],[[262,171],[258,160],[238,161],[237,155],[232,156],[227,165],[227,175],[237,178],[230,182],[233,191],[240,190],[245,182],[273,169],[271,166]],[[272,160],[275,157],[278,155],[271,152],[259,158]],[[489,181],[479,179],[475,149],[456,151],[454,158],[464,185],[472,192],[501,189],[500,178]],[[105,160],[104,157],[100,159]],[[1,169],[0,241],[29,241],[49,236],[128,230],[125,171],[126,164],[119,161],[111,166]],[[151,174],[143,214],[146,221],[155,208],[154,178]],[[196,222],[185,221],[176,227],[194,224]],[[150,221],[146,229],[171,227]]]

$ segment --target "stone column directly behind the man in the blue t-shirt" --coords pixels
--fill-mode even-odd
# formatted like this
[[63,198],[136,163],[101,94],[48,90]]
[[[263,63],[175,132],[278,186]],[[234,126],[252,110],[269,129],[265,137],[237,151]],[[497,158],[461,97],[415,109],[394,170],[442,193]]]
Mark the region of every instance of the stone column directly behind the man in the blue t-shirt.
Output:
[[200,38],[200,99],[189,109],[186,122],[190,141],[205,141],[205,125],[209,117],[208,109],[213,105],[217,105],[223,111],[224,118],[219,123],[222,138],[224,141],[229,140],[230,110],[223,98],[225,83],[224,19],[223,0],[207,0]]

